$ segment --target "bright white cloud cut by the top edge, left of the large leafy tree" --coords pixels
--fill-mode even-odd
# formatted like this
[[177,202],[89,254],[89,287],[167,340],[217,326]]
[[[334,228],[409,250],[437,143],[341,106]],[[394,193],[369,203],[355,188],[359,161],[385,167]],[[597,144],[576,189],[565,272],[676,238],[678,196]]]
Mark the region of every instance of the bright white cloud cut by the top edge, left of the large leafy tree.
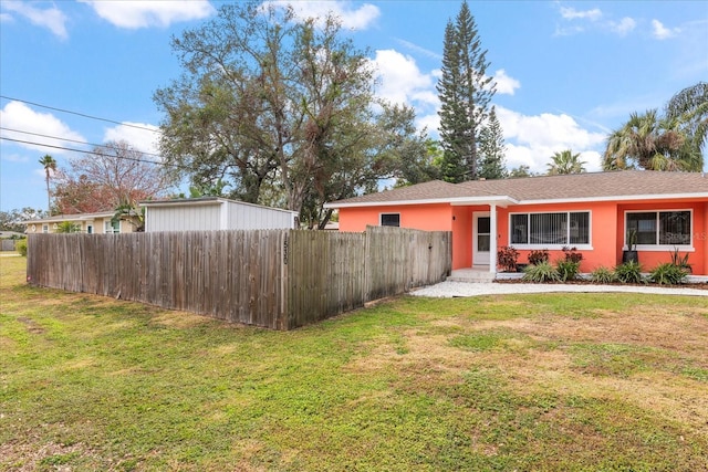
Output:
[[207,0],[79,1],[91,6],[98,17],[115,27],[129,30],[166,28],[179,21],[200,20],[215,12]]

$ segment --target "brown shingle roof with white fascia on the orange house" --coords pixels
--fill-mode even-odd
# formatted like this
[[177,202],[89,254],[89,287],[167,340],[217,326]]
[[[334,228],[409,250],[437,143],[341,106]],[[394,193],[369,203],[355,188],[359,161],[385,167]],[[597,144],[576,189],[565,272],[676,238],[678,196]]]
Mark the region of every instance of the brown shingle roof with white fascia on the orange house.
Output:
[[329,203],[327,207],[450,201],[464,198],[509,197],[518,202],[538,200],[606,200],[653,196],[708,198],[708,176],[701,172],[623,170],[543,176],[503,180],[447,183],[440,180],[365,195]]

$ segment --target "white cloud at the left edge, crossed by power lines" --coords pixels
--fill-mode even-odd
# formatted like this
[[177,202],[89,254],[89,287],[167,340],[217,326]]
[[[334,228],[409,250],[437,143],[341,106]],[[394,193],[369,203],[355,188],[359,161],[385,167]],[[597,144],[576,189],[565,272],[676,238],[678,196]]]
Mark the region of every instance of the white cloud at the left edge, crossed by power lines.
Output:
[[[2,127],[6,128],[0,130],[2,137],[29,141],[14,143],[28,149],[37,149],[52,155],[62,155],[66,151],[41,145],[76,148],[86,143],[83,136],[73,132],[66,124],[62,123],[52,114],[34,112],[21,102],[9,102],[3,109],[0,109],[0,123],[2,123]],[[10,132],[8,129],[17,129],[18,132],[25,133]],[[45,136],[53,136],[55,138]]]

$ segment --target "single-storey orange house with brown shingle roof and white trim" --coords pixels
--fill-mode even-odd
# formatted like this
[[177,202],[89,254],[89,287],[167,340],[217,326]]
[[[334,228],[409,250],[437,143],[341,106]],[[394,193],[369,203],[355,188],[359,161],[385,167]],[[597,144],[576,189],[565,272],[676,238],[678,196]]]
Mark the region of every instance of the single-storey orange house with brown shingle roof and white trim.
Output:
[[396,225],[452,232],[452,269],[488,266],[511,245],[583,254],[581,271],[622,262],[628,229],[637,231],[645,270],[688,253],[695,275],[708,275],[708,177],[700,172],[625,170],[447,183],[439,180],[327,203],[340,231]]

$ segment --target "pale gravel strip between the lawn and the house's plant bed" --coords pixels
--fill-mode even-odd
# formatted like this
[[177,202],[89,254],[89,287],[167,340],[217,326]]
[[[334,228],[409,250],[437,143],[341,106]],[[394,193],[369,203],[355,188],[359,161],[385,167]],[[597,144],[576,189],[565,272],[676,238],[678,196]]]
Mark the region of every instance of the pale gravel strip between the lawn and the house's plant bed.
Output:
[[452,298],[456,296],[478,296],[514,293],[658,293],[662,295],[696,295],[708,296],[708,290],[687,287],[658,287],[658,286],[634,286],[634,285],[586,285],[586,284],[502,284],[502,283],[470,283],[470,282],[440,282],[410,292],[410,295],[429,296],[437,298]]

